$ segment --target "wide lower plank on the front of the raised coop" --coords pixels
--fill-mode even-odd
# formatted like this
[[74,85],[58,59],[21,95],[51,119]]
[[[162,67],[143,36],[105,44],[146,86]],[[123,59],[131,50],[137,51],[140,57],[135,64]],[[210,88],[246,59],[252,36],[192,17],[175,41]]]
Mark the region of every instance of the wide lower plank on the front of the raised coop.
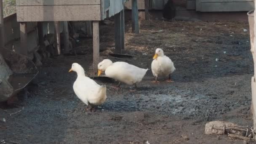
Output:
[[101,20],[100,5],[17,6],[17,21]]

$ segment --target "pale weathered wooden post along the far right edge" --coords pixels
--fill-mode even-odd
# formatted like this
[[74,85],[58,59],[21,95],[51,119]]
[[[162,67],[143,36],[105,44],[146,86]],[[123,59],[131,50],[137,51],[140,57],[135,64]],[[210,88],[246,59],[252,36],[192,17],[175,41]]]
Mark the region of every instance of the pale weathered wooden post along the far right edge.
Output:
[[[253,108],[253,127],[256,128],[256,81],[255,81],[255,74],[256,74],[256,3],[254,3],[254,36],[253,36],[253,48],[251,48],[251,53],[253,55],[253,63],[254,63],[254,75],[251,78],[251,94],[252,94],[252,108]],[[250,29],[251,30],[251,29]]]

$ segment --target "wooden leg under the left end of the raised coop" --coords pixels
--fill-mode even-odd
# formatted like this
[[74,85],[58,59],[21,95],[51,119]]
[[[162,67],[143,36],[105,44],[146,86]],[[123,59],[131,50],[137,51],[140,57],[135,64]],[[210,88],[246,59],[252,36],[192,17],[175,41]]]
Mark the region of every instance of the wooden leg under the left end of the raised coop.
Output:
[[28,48],[27,48],[27,22],[20,22],[20,37],[21,37],[21,51],[20,53],[27,56]]

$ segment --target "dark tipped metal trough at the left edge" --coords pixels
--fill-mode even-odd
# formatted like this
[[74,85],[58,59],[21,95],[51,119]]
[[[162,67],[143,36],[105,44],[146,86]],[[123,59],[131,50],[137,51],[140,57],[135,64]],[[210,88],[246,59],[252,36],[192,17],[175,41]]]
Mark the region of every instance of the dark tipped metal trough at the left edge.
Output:
[[27,86],[38,74],[37,67],[27,56],[0,49],[0,102],[7,101]]

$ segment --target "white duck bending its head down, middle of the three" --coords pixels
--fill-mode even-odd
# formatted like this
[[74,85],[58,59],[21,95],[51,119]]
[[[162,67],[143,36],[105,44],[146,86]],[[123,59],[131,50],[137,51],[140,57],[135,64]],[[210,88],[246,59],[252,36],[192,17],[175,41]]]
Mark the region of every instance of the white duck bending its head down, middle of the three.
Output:
[[104,59],[98,64],[98,76],[101,75],[101,72],[105,72],[107,77],[119,81],[117,88],[119,88],[120,82],[128,85],[134,84],[136,88],[136,83],[141,82],[147,70],[148,69],[142,69],[122,61],[113,63],[109,59]]

